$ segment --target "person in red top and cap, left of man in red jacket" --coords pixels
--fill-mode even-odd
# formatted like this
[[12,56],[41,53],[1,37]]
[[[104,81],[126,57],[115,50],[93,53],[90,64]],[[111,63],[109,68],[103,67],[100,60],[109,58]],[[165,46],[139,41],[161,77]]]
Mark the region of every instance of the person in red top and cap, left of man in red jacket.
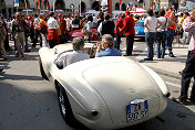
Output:
[[124,24],[123,24],[124,18],[125,18],[125,13],[122,13],[122,14],[120,15],[120,18],[117,19],[117,21],[116,21],[116,28],[115,28],[115,31],[114,31],[115,37],[116,37],[114,47],[115,47],[116,50],[120,50],[121,35],[123,34],[122,32],[120,32],[120,29],[122,29],[123,25],[124,25]]

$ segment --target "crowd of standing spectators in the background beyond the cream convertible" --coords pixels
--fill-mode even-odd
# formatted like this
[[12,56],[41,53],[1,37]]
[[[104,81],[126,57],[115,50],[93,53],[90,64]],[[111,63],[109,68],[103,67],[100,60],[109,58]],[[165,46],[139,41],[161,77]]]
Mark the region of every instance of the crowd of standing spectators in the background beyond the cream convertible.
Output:
[[[42,46],[42,37],[44,36],[52,48],[57,44],[64,44],[70,40],[69,32],[72,30],[82,30],[85,40],[89,42],[92,37],[92,29],[96,29],[99,37],[104,34],[110,34],[115,37],[114,47],[119,51],[121,37],[126,37],[126,52],[124,56],[132,55],[134,36],[135,36],[135,22],[138,19],[144,20],[145,26],[145,41],[147,45],[147,57],[145,61],[153,61],[154,57],[154,42],[157,43],[156,56],[164,58],[165,50],[168,50],[168,55],[175,57],[173,54],[172,43],[175,35],[183,36],[183,44],[188,44],[192,33],[183,30],[183,22],[189,17],[188,12],[179,15],[175,14],[174,8],[170,7],[166,11],[148,10],[147,15],[133,15],[130,11],[115,15],[112,18],[109,13],[100,12],[95,15],[69,14],[57,17],[54,12],[49,15],[33,14],[27,17],[25,14],[17,13],[12,19],[7,22],[2,17],[0,20],[0,46],[1,55],[7,61],[7,52],[10,51],[9,40],[14,41],[16,56],[23,57],[24,52],[30,52],[30,47],[37,47],[40,37],[40,46]],[[28,39],[31,39],[32,46],[29,45]],[[101,39],[99,39],[101,40]],[[178,39],[179,40],[179,39]]]

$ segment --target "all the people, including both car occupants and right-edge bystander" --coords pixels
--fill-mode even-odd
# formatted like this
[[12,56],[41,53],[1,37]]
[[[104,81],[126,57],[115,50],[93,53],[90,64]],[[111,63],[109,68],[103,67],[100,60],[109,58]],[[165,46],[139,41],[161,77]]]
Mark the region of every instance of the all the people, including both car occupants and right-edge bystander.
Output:
[[[115,18],[114,18],[115,19]],[[0,55],[3,61],[7,61],[7,52],[12,48],[9,41],[14,41],[16,56],[24,57],[24,52],[30,52],[29,41],[31,39],[32,48],[37,47],[40,37],[40,46],[43,46],[42,39],[47,39],[49,47],[52,48],[58,44],[68,42],[72,30],[81,30],[89,42],[92,40],[92,29],[96,29],[101,42],[96,43],[96,57],[102,56],[122,56],[120,50],[121,37],[126,37],[126,52],[124,56],[131,56],[133,52],[134,36],[135,36],[135,22],[136,20],[144,20],[145,26],[145,41],[147,46],[147,57],[144,61],[153,61],[154,57],[154,43],[157,44],[156,56],[164,58],[165,50],[168,50],[168,55],[175,57],[173,53],[173,40],[176,36],[177,42],[183,37],[183,44],[189,44],[189,52],[186,61],[186,66],[182,73],[182,89],[181,96],[174,98],[176,102],[182,105],[186,100],[195,101],[195,83],[193,85],[191,98],[187,97],[191,78],[195,76],[195,9],[189,12],[175,14],[173,7],[166,11],[147,10],[147,15],[133,15],[130,11],[116,17],[115,21],[109,13],[102,13],[98,17],[89,15],[81,17],[79,14],[54,15],[50,12],[49,15],[34,14],[27,17],[17,13],[8,22],[4,17],[0,20]],[[115,37],[115,41],[114,41]],[[83,53],[84,39],[75,37],[72,41],[73,52],[60,54],[54,64],[59,68],[63,68],[69,64],[79,62],[81,59],[90,58],[89,54]],[[1,68],[0,72],[3,69]]]

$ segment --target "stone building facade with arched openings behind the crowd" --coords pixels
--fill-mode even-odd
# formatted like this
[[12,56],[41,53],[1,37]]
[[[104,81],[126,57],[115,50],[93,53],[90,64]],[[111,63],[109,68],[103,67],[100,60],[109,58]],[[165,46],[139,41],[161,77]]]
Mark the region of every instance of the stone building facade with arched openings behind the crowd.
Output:
[[[25,7],[27,1],[27,7]],[[85,12],[88,10],[94,9],[99,10],[99,1],[101,0],[48,0],[49,1],[49,10],[64,10],[76,12]],[[161,9],[167,8],[170,3],[173,3],[176,8],[178,7],[178,0],[122,0],[120,4],[120,0],[111,0],[112,1],[112,10],[123,10],[125,11],[127,4],[131,2],[134,6],[138,6],[144,9]],[[40,3],[42,1],[40,0]],[[81,4],[81,9],[80,9]],[[19,8],[13,7],[13,0],[0,0],[0,14],[10,18],[17,10],[20,12],[23,9],[31,9],[37,11],[37,0],[19,0]],[[45,6],[41,6],[40,10],[45,9]]]

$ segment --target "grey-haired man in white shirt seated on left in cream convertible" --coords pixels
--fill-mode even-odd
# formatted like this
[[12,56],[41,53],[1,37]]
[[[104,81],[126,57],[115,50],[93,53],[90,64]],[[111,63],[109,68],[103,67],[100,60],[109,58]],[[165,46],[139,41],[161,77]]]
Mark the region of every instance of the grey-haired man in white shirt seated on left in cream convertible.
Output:
[[90,58],[89,54],[83,53],[83,50],[84,50],[83,37],[74,37],[72,45],[73,45],[73,52],[61,53],[54,59],[54,64],[58,66],[58,68],[64,68],[65,66],[72,63]]

